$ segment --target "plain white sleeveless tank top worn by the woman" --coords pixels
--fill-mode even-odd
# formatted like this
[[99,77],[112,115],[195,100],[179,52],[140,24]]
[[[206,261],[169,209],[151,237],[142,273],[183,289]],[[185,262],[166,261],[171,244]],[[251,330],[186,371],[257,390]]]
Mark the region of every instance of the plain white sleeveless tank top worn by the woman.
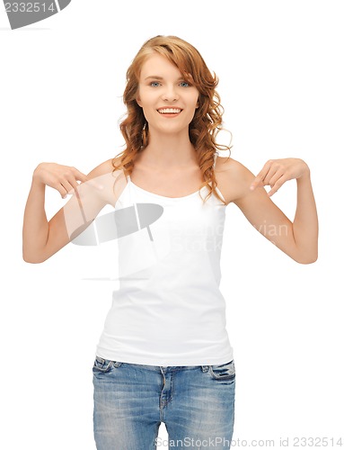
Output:
[[138,187],[128,176],[115,210],[134,205],[138,222],[144,203],[161,205],[163,213],[149,227],[118,239],[122,276],[97,356],[162,366],[234,359],[219,289],[225,204],[214,194],[203,203],[199,193],[205,198],[207,187],[165,197]]

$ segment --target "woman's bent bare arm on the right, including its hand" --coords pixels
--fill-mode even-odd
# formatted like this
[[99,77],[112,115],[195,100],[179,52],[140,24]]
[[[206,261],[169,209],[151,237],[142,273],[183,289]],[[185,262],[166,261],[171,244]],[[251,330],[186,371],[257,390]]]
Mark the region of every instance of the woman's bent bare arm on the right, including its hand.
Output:
[[[289,257],[311,264],[318,257],[318,217],[310,169],[304,160],[294,157],[270,159],[254,177],[247,169],[243,178],[249,189],[234,201],[252,225]],[[253,179],[252,179],[253,178]],[[269,197],[288,180],[296,180],[297,204],[294,221],[287,219]],[[271,187],[266,193],[263,186]],[[248,192],[250,191],[251,194]]]

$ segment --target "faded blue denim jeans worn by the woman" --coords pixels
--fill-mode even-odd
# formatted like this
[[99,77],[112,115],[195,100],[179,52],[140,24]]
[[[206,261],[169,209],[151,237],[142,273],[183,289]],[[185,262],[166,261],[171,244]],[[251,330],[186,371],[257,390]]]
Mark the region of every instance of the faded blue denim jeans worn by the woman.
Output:
[[[98,450],[228,449],[234,429],[234,361],[159,366],[93,365],[94,439]],[[159,441],[164,422],[169,447]],[[161,438],[160,438],[161,439]]]

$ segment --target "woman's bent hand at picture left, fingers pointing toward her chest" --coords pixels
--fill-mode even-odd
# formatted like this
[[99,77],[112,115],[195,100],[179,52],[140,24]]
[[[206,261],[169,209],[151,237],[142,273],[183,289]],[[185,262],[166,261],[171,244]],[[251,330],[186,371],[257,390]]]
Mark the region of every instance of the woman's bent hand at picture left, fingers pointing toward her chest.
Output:
[[40,163],[33,172],[33,181],[56,189],[63,199],[78,186],[78,181],[84,183],[87,176],[72,166],[56,163]]

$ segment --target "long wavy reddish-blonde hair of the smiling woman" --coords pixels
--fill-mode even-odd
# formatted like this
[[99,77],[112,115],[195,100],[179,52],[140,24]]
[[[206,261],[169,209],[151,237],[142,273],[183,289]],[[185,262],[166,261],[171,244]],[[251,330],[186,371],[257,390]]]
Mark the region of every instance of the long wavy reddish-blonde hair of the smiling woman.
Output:
[[[214,158],[216,150],[226,149],[230,152],[231,146],[216,143],[217,133],[223,130],[222,116],[224,113],[220,96],[216,92],[218,78],[214,72],[214,75],[210,73],[198,50],[177,36],[158,35],[146,40],[128,67],[127,84],[123,94],[127,112],[124,119],[119,122],[119,130],[126,141],[126,148],[119,153],[118,157],[113,158],[112,166],[114,170],[122,168],[125,175],[131,175],[138,154],[145,151],[149,143],[148,122],[142,108],[137,104],[136,98],[141,68],[146,58],[149,58],[154,52],[167,58],[178,67],[186,80],[191,76],[193,85],[198,89],[198,108],[189,125],[189,136],[190,142],[197,152],[198,166],[204,180],[199,190],[207,185],[207,196],[205,199],[201,197],[203,202],[207,201],[211,193],[214,193],[218,200],[224,202],[216,192]],[[118,166],[115,164],[116,159],[120,161]]]

